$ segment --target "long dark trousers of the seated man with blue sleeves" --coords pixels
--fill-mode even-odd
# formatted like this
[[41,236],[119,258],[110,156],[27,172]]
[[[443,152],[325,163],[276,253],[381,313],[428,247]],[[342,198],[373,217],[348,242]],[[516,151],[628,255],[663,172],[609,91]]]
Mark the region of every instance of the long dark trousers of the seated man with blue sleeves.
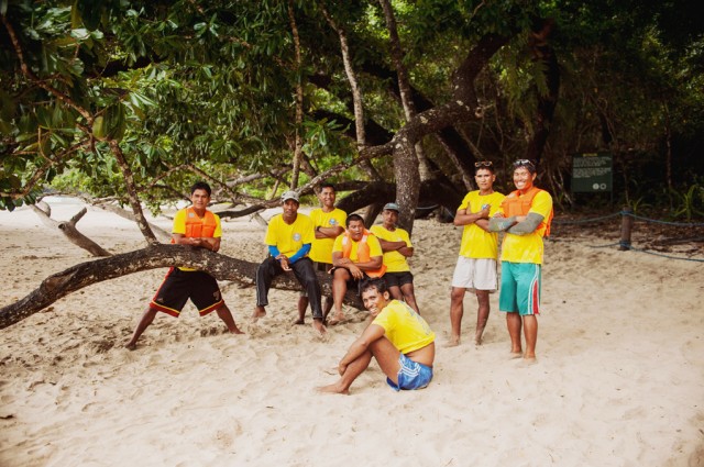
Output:
[[[294,276],[298,279],[306,293],[308,293],[308,300],[310,300],[310,309],[312,310],[312,318],[315,320],[322,320],[322,307],[320,305],[320,283],[316,277],[316,271],[312,267],[310,258],[300,258],[290,268],[294,270]],[[273,256],[267,257],[256,268],[256,304],[257,307],[266,307],[268,304],[268,289],[272,287],[272,281],[279,274],[286,273],[282,265]]]

